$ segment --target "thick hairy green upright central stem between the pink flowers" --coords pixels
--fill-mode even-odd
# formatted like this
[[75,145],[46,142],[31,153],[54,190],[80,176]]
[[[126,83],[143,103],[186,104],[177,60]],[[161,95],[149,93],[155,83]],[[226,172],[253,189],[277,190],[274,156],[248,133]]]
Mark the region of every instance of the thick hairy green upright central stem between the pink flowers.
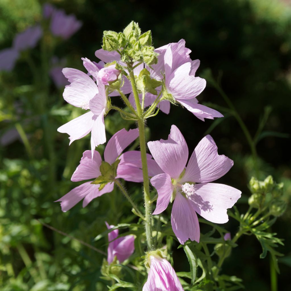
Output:
[[139,101],[139,94],[136,89],[136,83],[134,79],[134,73],[132,68],[129,67],[129,77],[132,85],[132,92],[136,103],[136,111],[138,115],[138,126],[139,126],[139,145],[141,150],[141,163],[143,167],[143,196],[145,203],[145,235],[148,244],[148,251],[153,249],[152,246],[152,218],[151,218],[151,204],[150,204],[150,184],[148,178],[148,163],[146,158],[146,147],[145,147],[145,120],[143,116],[143,110]]

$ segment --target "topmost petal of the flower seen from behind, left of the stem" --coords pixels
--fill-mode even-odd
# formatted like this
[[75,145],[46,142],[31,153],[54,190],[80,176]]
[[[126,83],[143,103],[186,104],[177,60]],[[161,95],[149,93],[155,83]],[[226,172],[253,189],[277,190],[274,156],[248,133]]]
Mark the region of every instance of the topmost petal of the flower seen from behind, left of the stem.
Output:
[[111,139],[109,139],[106,148],[104,150],[105,162],[112,164],[116,161],[118,156],[139,136],[139,130],[125,128],[116,132]]

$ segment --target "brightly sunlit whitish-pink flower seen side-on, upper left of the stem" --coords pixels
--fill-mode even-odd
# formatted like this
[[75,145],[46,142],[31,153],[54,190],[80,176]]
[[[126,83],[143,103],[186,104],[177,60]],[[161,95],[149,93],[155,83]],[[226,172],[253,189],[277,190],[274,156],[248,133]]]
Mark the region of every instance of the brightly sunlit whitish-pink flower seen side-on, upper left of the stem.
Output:
[[87,113],[69,121],[58,128],[58,132],[70,135],[70,144],[91,132],[92,157],[95,147],[105,143],[104,114],[107,110],[105,87],[95,82],[84,72],[72,68],[64,68],[63,74],[71,83],[65,87],[64,99],[75,107],[88,110]]

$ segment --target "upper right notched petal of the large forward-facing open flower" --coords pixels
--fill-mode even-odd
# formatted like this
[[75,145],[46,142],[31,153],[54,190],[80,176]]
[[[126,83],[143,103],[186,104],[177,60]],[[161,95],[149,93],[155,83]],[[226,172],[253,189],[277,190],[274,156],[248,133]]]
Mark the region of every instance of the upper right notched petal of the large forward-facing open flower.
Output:
[[225,175],[232,166],[233,160],[219,155],[217,145],[212,137],[207,135],[193,151],[180,182],[212,182]]

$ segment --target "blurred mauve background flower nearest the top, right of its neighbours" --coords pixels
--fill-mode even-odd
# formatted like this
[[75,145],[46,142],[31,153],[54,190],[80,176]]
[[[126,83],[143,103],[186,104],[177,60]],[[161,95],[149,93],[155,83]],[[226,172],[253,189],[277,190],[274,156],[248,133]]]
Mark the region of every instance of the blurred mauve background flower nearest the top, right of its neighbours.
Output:
[[63,10],[55,9],[51,15],[50,30],[54,36],[68,39],[82,26],[82,22],[75,15],[67,15]]

